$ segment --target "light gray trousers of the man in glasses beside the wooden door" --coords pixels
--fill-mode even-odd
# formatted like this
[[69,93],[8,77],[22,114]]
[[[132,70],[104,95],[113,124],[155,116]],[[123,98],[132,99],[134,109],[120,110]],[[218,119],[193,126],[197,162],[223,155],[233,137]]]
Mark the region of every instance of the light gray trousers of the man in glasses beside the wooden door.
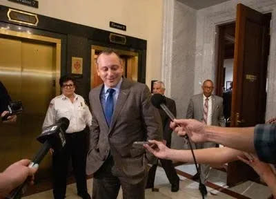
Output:
[[[206,149],[216,147],[216,143],[214,142],[204,142],[204,143],[197,143],[195,144],[196,149]],[[195,157],[197,158],[197,157]],[[200,173],[200,180],[202,183],[205,183],[210,172],[210,164],[199,164],[199,173]]]

